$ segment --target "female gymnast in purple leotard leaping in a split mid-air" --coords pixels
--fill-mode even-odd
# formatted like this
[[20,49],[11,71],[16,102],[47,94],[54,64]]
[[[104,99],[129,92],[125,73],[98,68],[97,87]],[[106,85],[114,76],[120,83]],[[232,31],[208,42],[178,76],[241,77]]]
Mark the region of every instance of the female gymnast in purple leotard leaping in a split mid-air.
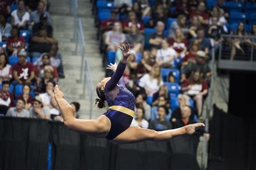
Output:
[[96,99],[96,103],[99,102],[98,107],[105,107],[105,100],[109,105],[109,109],[105,114],[97,119],[76,119],[73,108],[64,100],[64,94],[59,90],[59,86],[56,85],[54,97],[58,103],[65,126],[89,136],[106,138],[114,144],[138,143],[145,140],[167,141],[180,134],[192,134],[197,127],[205,126],[203,123],[196,123],[186,125],[183,128],[165,131],[154,131],[140,128],[139,126],[130,127],[134,115],[135,97],[125,87],[122,77],[127,58],[131,55],[130,45],[119,48],[123,52],[123,57],[117,68],[112,64],[108,67],[113,71],[116,69],[116,72],[112,77],[104,78],[96,87],[97,95],[100,98]]

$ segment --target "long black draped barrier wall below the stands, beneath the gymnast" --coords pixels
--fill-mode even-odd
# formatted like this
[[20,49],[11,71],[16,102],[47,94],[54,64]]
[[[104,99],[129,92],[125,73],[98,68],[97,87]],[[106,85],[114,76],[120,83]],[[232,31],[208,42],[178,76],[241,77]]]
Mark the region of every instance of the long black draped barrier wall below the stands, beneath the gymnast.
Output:
[[179,136],[168,142],[146,141],[114,145],[39,119],[0,117],[0,169],[143,170],[199,169],[199,136]]

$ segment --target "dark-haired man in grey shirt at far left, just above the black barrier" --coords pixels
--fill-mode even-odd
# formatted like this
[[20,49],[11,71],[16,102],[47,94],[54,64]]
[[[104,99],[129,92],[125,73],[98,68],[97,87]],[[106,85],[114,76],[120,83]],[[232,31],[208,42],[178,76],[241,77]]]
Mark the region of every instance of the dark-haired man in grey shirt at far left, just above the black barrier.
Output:
[[6,116],[11,117],[30,117],[29,111],[25,109],[25,101],[21,98],[17,101],[16,107],[10,108]]

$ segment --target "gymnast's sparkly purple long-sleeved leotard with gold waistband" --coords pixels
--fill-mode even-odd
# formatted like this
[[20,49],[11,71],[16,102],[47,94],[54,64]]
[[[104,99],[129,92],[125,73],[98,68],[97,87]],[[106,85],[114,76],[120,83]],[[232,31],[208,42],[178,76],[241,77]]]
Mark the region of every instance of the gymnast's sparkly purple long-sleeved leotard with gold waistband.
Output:
[[108,140],[116,138],[118,134],[129,128],[134,115],[135,97],[125,87],[122,77],[125,67],[125,63],[119,62],[116,72],[104,88],[109,110],[103,115],[111,121],[111,129],[106,136]]

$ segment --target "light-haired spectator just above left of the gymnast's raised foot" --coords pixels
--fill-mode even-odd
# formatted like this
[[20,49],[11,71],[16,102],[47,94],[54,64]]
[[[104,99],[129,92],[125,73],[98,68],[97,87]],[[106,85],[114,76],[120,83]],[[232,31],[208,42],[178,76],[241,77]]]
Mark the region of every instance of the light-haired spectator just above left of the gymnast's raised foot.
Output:
[[38,95],[40,93],[45,93],[46,92],[46,83],[48,81],[54,81],[54,79],[53,79],[53,68],[51,66],[45,66],[44,67],[44,76],[43,77],[37,77],[35,88],[36,88],[36,93]]

